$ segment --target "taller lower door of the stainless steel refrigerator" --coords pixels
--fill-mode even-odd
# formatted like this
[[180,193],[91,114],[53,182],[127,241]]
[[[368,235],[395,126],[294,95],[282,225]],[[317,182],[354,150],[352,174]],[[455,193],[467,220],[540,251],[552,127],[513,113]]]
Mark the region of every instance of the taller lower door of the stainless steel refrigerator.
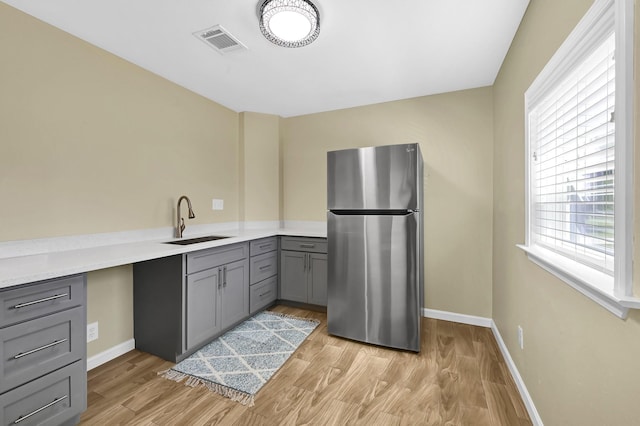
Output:
[[420,351],[419,213],[328,213],[330,334]]

